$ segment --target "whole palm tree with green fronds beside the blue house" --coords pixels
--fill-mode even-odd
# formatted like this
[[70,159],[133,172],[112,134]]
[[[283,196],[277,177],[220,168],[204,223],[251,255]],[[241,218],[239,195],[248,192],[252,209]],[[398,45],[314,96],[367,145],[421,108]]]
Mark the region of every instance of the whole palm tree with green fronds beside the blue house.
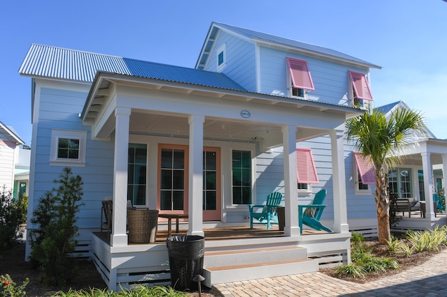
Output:
[[416,111],[399,108],[390,119],[373,109],[346,121],[346,139],[375,167],[374,199],[379,225],[379,243],[390,241],[390,199],[387,193],[388,167],[400,163],[400,151],[415,143],[414,133],[425,135],[425,121]]

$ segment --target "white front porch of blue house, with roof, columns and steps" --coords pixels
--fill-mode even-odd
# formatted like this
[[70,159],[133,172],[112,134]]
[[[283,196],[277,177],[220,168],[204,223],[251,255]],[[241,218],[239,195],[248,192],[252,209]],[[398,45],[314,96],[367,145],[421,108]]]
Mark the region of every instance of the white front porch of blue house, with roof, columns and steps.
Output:
[[[274,110],[272,110],[274,106]],[[240,269],[238,272],[210,273],[205,284],[270,277],[318,270],[318,260],[308,257],[330,256],[334,263],[350,261],[350,237],[346,211],[346,182],[344,172],[344,121],[362,111],[351,107],[328,105],[315,101],[217,89],[192,84],[164,82],[98,72],[91,86],[82,121],[91,125],[92,139],[110,139],[115,143],[113,178],[112,232],[109,241],[92,234],[92,253],[98,270],[101,271],[110,289],[129,287],[134,282],[166,280],[168,251],[166,244],[128,244],[126,234],[126,206],[128,181],[129,142],[148,139],[149,164],[156,164],[160,144],[187,146],[185,159],[189,163],[189,179],[185,204],[189,215],[187,234],[204,236],[205,228],[247,227],[248,223],[228,222],[228,215],[235,211],[247,211],[247,205],[231,205],[230,148],[250,146],[252,150],[265,152],[270,148],[284,147],[284,234],[279,238],[237,238],[228,241],[207,240],[206,252],[252,249],[296,249],[300,248],[300,260],[304,264],[286,264],[297,258],[297,252],[277,252],[278,258],[270,262],[282,262],[270,266]],[[321,135],[329,135],[332,151],[333,221],[326,224],[332,234],[300,234],[298,224],[298,189],[296,143]],[[203,151],[204,147],[221,148],[221,201],[218,201],[219,218],[205,222],[203,217]],[[256,156],[252,155],[252,162]],[[157,179],[156,166],[148,174]],[[256,174],[252,174],[256,187]],[[158,177],[159,178],[159,177]],[[256,188],[252,191],[251,203],[256,200]],[[159,185],[155,181],[147,186],[147,206],[159,208]],[[160,229],[166,227],[160,227]],[[244,254],[244,253],[240,253]],[[265,261],[255,252],[254,259]],[[262,254],[262,253],[261,253]],[[270,252],[269,254],[275,254]],[[281,258],[284,257],[286,258]],[[245,253],[247,257],[247,253]],[[234,257],[236,262],[240,257]],[[267,257],[268,258],[268,257]],[[239,260],[238,260],[239,259]],[[205,259],[205,268],[215,267],[213,261]],[[295,260],[292,260],[295,261]],[[298,260],[296,260],[298,261]],[[240,263],[240,262],[239,262]],[[255,263],[256,264],[256,263]],[[253,263],[250,264],[254,266]],[[302,268],[300,268],[302,267]],[[218,269],[214,269],[218,270]],[[248,278],[247,278],[248,277]]]

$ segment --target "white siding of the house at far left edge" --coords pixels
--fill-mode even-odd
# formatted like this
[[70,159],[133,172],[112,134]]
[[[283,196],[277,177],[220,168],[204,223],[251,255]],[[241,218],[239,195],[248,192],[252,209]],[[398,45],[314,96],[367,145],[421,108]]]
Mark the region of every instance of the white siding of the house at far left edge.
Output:
[[13,192],[15,142],[0,139],[0,192]]

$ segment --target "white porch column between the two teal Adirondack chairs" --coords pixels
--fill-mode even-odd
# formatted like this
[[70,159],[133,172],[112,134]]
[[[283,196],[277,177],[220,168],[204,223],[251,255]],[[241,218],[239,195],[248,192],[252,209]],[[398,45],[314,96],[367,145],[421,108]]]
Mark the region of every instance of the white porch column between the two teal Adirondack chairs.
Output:
[[281,127],[284,145],[284,206],[286,210],[286,225],[284,236],[300,236],[298,226],[298,176],[296,167],[296,126]]

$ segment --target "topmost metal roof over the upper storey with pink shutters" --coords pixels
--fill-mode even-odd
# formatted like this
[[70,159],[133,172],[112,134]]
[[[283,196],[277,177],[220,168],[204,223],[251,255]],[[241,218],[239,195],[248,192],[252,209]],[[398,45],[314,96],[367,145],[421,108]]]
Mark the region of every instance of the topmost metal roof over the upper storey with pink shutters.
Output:
[[279,37],[279,36],[274,36],[274,35],[271,35],[268,33],[262,33],[262,32],[253,31],[250,29],[244,29],[244,28],[240,28],[238,26],[232,26],[229,24],[213,22],[212,26],[213,26],[213,24],[216,26],[219,26],[221,28],[233,31],[237,34],[240,34],[240,35],[245,36],[250,39],[265,40],[270,43],[279,43],[281,45],[286,45],[288,47],[297,47],[298,49],[308,50],[308,51],[315,52],[318,54],[324,54],[324,55],[333,56],[333,57],[336,57],[339,59],[345,59],[345,60],[353,61],[356,63],[365,64],[365,65],[369,66],[370,68],[381,68],[380,66],[376,66],[376,65],[369,63],[367,61],[357,59],[356,57],[349,56],[348,54],[343,54],[342,52],[337,52],[336,50],[331,50],[327,47],[312,45],[310,43],[303,43],[302,41],[283,38],[283,37]]

